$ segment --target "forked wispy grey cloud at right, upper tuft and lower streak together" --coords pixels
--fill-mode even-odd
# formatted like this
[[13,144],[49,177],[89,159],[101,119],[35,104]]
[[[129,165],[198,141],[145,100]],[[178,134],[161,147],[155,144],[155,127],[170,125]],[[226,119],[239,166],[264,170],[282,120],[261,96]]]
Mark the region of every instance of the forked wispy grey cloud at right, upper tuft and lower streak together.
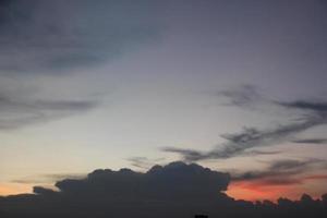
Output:
[[[222,92],[222,95],[230,98],[232,106],[249,107],[258,104],[258,101],[265,101],[282,109],[300,110],[302,113],[299,113],[295,121],[289,121],[287,124],[280,124],[272,129],[243,128],[240,133],[223,134],[221,137],[227,142],[209,152],[178,147],[165,147],[162,150],[180,154],[185,161],[231,158],[244,155],[251,148],[271,146],[291,141],[301,132],[327,123],[327,104],[325,101],[296,100],[281,102],[268,100],[259,95],[254,86],[242,86],[237,90],[226,90]],[[324,143],[324,140],[311,142]]]

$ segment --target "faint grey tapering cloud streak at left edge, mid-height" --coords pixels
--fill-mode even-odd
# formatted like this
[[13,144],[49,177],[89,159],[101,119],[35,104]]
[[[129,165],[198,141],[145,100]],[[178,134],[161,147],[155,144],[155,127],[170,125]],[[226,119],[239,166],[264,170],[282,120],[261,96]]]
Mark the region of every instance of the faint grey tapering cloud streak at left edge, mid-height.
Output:
[[0,96],[0,130],[11,130],[85,112],[97,100],[44,100],[21,95]]

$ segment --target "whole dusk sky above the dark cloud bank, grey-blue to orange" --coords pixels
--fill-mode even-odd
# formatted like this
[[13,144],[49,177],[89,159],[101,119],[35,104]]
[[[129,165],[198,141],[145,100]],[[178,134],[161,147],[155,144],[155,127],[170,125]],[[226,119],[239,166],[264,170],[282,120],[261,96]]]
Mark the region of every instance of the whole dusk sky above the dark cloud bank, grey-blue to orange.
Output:
[[182,160],[235,198],[327,182],[324,0],[0,1],[0,195]]

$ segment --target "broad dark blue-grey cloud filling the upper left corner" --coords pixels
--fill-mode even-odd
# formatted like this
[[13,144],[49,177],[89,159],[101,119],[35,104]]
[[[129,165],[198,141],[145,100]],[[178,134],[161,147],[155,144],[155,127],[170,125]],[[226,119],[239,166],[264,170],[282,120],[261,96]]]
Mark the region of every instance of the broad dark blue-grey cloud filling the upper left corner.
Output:
[[4,1],[0,73],[58,73],[114,59],[158,35],[156,8],[150,1]]

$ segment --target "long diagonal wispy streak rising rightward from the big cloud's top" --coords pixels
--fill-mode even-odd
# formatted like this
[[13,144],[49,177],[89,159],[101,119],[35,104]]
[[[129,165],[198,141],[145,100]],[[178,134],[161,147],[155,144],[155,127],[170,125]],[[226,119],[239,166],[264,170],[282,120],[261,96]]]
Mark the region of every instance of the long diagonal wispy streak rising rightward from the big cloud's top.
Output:
[[244,128],[241,133],[221,135],[228,142],[209,152],[198,152],[193,149],[164,148],[164,152],[178,153],[187,161],[202,159],[221,159],[243,155],[246,149],[262,146],[271,146],[290,140],[296,133],[308,130],[319,124],[325,124],[320,117],[310,116],[303,120],[279,125],[271,130],[258,130],[255,128]]

